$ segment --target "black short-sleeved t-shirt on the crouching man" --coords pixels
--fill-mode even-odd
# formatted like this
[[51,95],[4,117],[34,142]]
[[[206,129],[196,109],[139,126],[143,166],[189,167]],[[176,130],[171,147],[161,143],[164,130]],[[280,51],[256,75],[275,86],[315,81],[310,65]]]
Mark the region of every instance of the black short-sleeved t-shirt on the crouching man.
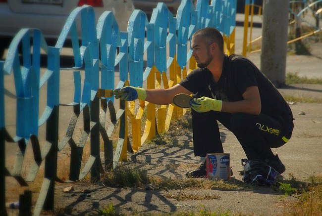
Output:
[[198,68],[179,84],[198,97],[207,96],[222,101],[243,100],[247,87],[258,86],[262,103],[261,114],[293,120],[290,107],[276,87],[249,59],[241,55],[225,56],[217,83],[207,68]]

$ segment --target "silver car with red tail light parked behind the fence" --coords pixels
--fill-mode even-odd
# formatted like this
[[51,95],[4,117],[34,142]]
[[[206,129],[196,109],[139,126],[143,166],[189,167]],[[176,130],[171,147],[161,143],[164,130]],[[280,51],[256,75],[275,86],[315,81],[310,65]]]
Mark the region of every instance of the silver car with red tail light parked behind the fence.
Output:
[[54,45],[71,11],[83,4],[94,7],[96,23],[104,11],[112,11],[120,31],[127,30],[134,10],[132,0],[0,0],[0,59],[22,28],[40,29]]

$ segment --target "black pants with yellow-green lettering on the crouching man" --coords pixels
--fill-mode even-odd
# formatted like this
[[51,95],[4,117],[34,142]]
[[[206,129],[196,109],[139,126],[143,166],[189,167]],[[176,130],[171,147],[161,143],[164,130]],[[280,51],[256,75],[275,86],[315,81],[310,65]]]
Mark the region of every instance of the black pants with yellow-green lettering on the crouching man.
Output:
[[217,120],[235,134],[249,160],[272,159],[274,154],[270,148],[284,145],[293,131],[293,122],[282,117],[192,110],[195,156],[223,152]]

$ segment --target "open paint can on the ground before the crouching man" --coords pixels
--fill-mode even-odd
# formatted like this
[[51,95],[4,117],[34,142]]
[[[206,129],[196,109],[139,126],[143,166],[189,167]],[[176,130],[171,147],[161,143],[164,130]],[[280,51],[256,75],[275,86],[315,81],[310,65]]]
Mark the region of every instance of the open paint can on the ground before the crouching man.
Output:
[[229,153],[207,154],[207,178],[212,180],[230,179],[230,154]]

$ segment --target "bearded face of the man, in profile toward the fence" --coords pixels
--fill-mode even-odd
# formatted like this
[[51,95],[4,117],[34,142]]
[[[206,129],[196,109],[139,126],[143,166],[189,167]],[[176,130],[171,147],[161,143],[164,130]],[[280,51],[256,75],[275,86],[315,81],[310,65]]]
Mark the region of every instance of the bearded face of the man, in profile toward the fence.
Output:
[[210,45],[207,45],[201,37],[192,37],[191,47],[192,56],[195,57],[199,68],[206,68],[214,59],[209,51]]

